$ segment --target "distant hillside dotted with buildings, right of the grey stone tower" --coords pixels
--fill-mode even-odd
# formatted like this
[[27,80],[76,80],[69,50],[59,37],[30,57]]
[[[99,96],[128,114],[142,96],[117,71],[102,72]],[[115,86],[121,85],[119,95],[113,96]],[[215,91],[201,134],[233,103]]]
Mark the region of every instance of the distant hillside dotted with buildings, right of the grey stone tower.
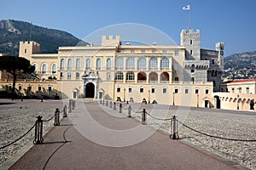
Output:
[[256,51],[225,57],[223,78],[256,78]]

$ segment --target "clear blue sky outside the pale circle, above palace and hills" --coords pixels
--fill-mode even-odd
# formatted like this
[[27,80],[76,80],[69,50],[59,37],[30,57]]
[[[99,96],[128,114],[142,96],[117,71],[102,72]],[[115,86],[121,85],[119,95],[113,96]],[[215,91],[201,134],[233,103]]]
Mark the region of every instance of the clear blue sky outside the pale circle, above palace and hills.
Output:
[[[163,31],[180,43],[180,32],[201,30],[201,48],[225,43],[225,56],[256,50],[255,0],[1,0],[0,20],[24,20],[68,31],[83,39],[105,26],[137,23]],[[99,37],[100,39],[101,37]]]

